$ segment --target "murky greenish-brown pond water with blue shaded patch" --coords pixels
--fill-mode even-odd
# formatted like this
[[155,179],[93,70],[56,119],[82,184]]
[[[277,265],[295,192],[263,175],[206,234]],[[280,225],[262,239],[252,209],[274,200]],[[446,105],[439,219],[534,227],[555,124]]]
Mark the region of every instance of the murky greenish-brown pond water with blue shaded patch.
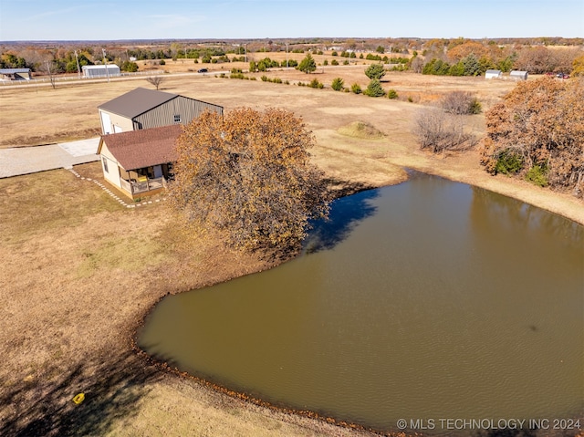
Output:
[[165,297],[139,345],[228,389],[396,431],[578,416],[583,312],[583,226],[414,173],[339,199],[284,265]]

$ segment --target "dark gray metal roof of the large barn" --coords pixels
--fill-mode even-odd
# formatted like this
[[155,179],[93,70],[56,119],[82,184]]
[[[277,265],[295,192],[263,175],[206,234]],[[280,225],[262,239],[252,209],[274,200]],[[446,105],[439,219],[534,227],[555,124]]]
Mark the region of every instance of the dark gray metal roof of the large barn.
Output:
[[156,108],[169,100],[175,99],[178,94],[155,91],[153,89],[136,88],[116,99],[99,105],[99,109],[113,114],[133,119],[144,112]]

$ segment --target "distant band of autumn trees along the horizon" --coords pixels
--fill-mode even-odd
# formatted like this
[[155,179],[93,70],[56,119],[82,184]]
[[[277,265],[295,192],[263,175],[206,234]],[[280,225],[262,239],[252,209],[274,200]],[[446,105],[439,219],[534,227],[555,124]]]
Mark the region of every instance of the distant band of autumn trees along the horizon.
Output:
[[[1,48],[0,68],[31,68],[42,72],[50,68],[52,73],[73,73],[84,65],[102,63],[105,57],[107,62],[116,63],[124,71],[136,71],[138,65],[135,61],[141,60],[186,58],[201,63],[242,62],[248,60],[247,55],[251,53],[287,50],[291,54],[330,54],[332,59],[321,61],[325,66],[329,62],[330,65],[339,65],[335,57],[345,57],[348,60],[343,61],[343,64],[349,63],[351,58],[359,58],[393,64],[392,69],[410,69],[422,74],[479,76],[485,74],[487,69],[503,72],[518,69],[531,74],[569,73],[573,71],[577,59],[584,54],[581,48],[584,38],[372,38],[347,39],[342,42],[315,38],[288,42],[242,40],[208,44],[188,41],[151,43],[151,47],[130,47],[127,42],[126,46],[104,43],[106,47],[91,47],[81,43],[78,47],[36,47],[33,43],[27,46],[25,43],[15,43]],[[295,62],[297,60],[290,57],[288,66],[292,67],[290,63]],[[267,66],[268,63],[259,61],[256,64]],[[274,62],[270,67],[275,67]]]

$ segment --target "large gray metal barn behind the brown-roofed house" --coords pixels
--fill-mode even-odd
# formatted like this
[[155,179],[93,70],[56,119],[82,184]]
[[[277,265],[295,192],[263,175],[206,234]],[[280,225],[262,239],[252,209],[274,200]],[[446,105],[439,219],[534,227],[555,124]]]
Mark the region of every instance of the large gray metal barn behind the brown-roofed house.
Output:
[[204,110],[223,115],[223,107],[201,100],[136,88],[98,107],[103,134],[188,124]]

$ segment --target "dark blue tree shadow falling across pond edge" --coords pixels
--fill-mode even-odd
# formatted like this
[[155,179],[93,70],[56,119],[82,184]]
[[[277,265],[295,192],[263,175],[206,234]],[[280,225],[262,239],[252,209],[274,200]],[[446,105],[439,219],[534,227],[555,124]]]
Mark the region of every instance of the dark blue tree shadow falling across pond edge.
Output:
[[311,254],[332,249],[342,242],[353,228],[377,210],[368,201],[380,195],[379,190],[371,189],[362,183],[347,183],[328,180],[328,185],[338,188],[331,190],[336,198],[330,204],[328,219],[310,223],[311,230],[302,244],[302,252]]

